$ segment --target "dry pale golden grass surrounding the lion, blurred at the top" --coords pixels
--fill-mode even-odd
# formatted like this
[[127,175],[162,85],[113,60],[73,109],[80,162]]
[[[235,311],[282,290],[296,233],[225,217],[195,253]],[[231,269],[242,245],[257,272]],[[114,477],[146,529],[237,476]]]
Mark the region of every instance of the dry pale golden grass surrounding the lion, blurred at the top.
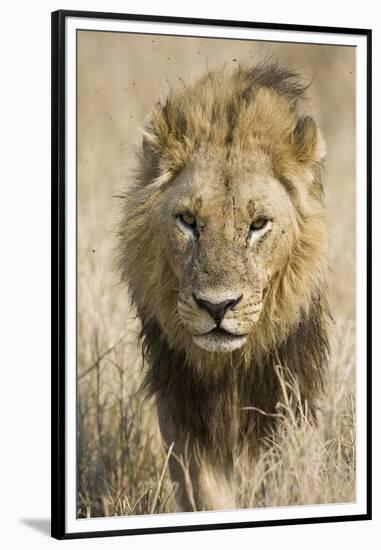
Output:
[[312,426],[297,385],[279,371],[280,427],[255,468],[236,465],[239,507],[355,500],[354,50],[349,47],[84,32],[78,36],[78,517],[176,511],[152,401],[142,378],[139,324],[113,268],[118,199],[138,129],[170,87],[207,68],[273,55],[307,81],[328,147],[334,323],[327,392]]

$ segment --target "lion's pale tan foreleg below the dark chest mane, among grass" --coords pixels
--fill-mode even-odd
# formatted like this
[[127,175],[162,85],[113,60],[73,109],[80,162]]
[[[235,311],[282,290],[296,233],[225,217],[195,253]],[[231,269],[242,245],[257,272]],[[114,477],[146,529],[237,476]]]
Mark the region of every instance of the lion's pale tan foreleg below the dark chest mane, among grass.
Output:
[[161,434],[168,446],[174,443],[169,458],[176,502],[181,511],[224,510],[236,508],[231,469],[215,465],[197,452],[195,446],[179,435],[165,402],[157,401]]

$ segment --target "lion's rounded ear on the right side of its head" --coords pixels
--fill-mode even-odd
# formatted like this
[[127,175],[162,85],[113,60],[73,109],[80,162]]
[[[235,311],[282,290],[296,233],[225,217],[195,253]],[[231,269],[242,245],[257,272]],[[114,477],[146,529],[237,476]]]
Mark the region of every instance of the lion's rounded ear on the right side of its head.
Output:
[[325,141],[310,116],[299,118],[292,133],[292,145],[300,162],[320,162],[325,157]]

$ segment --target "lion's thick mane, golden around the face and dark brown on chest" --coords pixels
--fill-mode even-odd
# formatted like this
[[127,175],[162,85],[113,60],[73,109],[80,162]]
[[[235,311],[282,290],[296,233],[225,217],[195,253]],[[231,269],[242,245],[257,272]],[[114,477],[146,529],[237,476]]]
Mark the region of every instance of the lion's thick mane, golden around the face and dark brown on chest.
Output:
[[[181,430],[212,449],[217,459],[226,460],[244,441],[254,452],[271,427],[271,414],[281,399],[277,365],[290,369],[312,413],[324,388],[329,309],[323,192],[320,164],[313,158],[316,132],[309,117],[297,115],[305,91],[297,74],[276,63],[239,67],[231,74],[208,73],[157,105],[144,130],[144,154],[126,192],[119,263],[142,323],[145,387],[164,399]],[[291,151],[281,138],[292,130]],[[160,252],[165,237],[152,232],[150,216],[163,186],[202,140],[214,140],[228,150],[237,134],[242,142],[254,139],[271,153],[286,186],[308,165],[314,191],[311,204],[298,205],[299,233],[291,244],[289,265],[268,290],[250,357],[233,352],[224,361],[218,354],[195,360],[158,321],[163,312],[164,319],[175,315],[177,284]]]

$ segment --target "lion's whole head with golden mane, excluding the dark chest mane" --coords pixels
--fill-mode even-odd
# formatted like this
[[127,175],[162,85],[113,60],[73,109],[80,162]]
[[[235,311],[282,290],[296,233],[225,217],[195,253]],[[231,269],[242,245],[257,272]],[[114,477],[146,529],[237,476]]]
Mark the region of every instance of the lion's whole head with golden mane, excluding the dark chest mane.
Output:
[[197,368],[262,361],[321,295],[325,147],[303,93],[277,66],[212,72],[143,132],[120,269],[143,333],[159,327]]

